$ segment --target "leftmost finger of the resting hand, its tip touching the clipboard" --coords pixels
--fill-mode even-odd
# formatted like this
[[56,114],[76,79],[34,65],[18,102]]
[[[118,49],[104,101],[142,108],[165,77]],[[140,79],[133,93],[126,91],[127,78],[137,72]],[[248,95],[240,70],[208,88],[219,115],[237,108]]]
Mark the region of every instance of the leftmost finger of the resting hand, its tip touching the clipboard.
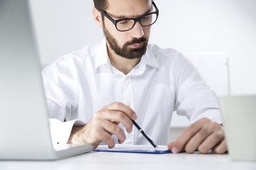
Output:
[[202,118],[198,120],[196,123],[190,125],[186,130],[184,130],[181,135],[174,142],[174,145],[171,149],[171,152],[178,153],[181,152],[182,149],[186,146],[187,142],[195,135],[199,130],[203,128],[206,123],[210,123],[208,118]]

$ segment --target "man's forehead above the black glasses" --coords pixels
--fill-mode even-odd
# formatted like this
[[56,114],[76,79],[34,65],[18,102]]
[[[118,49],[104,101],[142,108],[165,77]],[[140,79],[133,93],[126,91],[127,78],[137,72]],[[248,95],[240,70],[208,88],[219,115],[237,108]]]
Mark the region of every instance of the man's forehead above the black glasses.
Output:
[[113,16],[142,16],[151,8],[151,0],[108,0],[107,13]]

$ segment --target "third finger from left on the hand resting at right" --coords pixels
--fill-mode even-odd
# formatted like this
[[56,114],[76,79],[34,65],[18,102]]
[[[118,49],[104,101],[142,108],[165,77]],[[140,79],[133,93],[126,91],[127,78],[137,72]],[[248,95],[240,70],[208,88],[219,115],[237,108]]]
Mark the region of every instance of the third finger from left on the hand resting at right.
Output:
[[209,137],[206,138],[206,140],[198,147],[199,152],[206,153],[218,143],[220,143],[224,139],[223,132],[213,132]]

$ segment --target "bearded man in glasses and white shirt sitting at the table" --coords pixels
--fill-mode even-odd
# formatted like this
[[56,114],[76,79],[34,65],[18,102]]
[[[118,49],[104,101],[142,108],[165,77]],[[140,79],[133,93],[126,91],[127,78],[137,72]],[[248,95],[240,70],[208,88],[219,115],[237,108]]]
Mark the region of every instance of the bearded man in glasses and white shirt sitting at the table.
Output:
[[93,16],[106,39],[43,69],[55,142],[148,144],[132,124],[137,120],[156,144],[166,145],[176,110],[193,124],[169,143],[172,152],[226,152],[213,91],[186,57],[147,43],[159,14],[154,1],[94,3]]

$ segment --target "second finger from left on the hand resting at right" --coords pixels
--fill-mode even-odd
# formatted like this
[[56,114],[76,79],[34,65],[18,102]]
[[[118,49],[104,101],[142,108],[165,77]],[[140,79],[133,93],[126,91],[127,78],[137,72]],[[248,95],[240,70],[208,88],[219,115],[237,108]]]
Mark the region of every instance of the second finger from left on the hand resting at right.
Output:
[[[213,133],[213,128],[202,128],[199,130],[199,132],[194,135],[191,140],[188,141],[188,143],[185,146],[185,151],[188,153],[193,153],[198,149],[199,145],[203,143],[206,138]],[[200,150],[199,150],[200,151]],[[207,150],[208,151],[208,150]]]

